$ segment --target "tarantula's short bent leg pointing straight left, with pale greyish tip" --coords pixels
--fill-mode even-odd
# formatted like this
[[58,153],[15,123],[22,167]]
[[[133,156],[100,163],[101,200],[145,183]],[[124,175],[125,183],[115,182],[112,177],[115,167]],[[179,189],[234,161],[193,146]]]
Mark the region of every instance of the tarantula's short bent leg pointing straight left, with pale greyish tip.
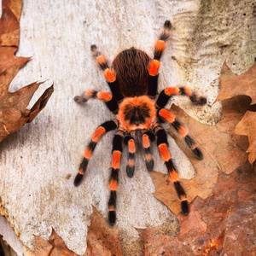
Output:
[[116,113],[118,111],[119,105],[112,94],[106,91],[96,91],[96,90],[86,90],[79,96],[74,97],[74,101],[81,104],[87,102],[90,98],[95,98],[106,103],[107,108]]

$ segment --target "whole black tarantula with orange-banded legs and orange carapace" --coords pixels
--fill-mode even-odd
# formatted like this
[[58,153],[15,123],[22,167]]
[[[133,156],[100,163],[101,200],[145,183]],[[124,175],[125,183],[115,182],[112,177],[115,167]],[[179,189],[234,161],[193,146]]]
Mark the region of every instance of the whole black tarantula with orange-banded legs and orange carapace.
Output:
[[160,58],[166,47],[166,41],[170,38],[171,27],[171,22],[166,20],[160,37],[155,44],[154,59],[151,59],[142,50],[131,47],[120,52],[113,60],[112,67],[109,68],[105,57],[96,45],[92,45],[92,55],[99,67],[102,68],[112,94],[105,91],[87,90],[82,95],[74,98],[78,103],[87,102],[90,98],[97,98],[105,102],[108,109],[115,114],[113,120],[103,123],[93,133],[79,166],[79,173],[74,180],[75,186],[81,183],[90,157],[102,136],[108,131],[117,130],[113,137],[113,156],[109,182],[108,221],[110,224],[114,224],[116,220],[116,191],[118,189],[119,166],[123,151],[122,143],[124,142],[128,146],[126,172],[128,177],[132,177],[137,146],[143,147],[148,171],[153,170],[154,160],[151,154],[151,143],[155,137],[161,159],[166,164],[169,180],[173,183],[181,201],[181,210],[183,214],[189,213],[187,196],[179,181],[176,167],[173,165],[168,150],[166,131],[160,123],[166,122],[172,125],[178,134],[183,137],[195,156],[201,160],[203,157],[201,150],[195,146],[195,141],[189,137],[188,130],[177,120],[175,114],[167,110],[165,106],[172,96],[177,95],[189,96],[191,102],[198,104],[205,104],[207,99],[196,96],[195,92],[188,87],[168,87],[162,90],[156,98]]

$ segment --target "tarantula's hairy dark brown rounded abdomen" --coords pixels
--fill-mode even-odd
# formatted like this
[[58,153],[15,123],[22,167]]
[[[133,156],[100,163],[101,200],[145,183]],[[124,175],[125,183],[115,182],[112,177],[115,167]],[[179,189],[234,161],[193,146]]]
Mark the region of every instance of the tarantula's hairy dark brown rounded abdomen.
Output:
[[148,92],[149,56],[131,47],[113,60],[113,69],[119,81],[119,91],[125,97],[143,96]]

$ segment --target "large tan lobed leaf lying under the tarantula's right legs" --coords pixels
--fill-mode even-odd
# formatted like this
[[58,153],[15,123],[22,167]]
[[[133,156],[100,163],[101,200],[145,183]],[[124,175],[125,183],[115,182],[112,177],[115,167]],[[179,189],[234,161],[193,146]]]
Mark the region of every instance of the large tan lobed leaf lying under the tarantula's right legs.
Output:
[[[247,138],[234,136],[232,131],[236,127],[239,119],[248,108],[250,100],[248,97],[241,96],[224,102],[222,119],[217,125],[203,125],[189,117],[181,108],[172,106],[172,111],[177,114],[183,125],[189,127],[189,133],[202,149],[203,160],[197,160],[186,146],[183,140],[177,136],[175,131],[170,131],[177,144],[183,149],[195,166],[196,174],[191,180],[182,180],[183,187],[187,192],[188,201],[191,202],[197,195],[206,199],[212,194],[215,187],[218,172],[227,174],[233,172],[247,161]],[[178,166],[177,166],[178,168]],[[159,172],[150,172],[154,182],[154,196],[164,202],[172,212],[180,212],[180,202],[177,199],[175,189],[172,184],[167,184],[167,176]]]

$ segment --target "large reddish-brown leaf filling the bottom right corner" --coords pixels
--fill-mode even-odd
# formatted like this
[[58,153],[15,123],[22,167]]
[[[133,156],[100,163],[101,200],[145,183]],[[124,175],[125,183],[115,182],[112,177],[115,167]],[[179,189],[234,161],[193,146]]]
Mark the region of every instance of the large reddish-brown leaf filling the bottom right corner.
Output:
[[138,230],[144,254],[255,255],[255,180],[248,162],[236,172],[219,174],[212,195],[206,200],[197,197],[188,216],[178,215],[177,236]]

